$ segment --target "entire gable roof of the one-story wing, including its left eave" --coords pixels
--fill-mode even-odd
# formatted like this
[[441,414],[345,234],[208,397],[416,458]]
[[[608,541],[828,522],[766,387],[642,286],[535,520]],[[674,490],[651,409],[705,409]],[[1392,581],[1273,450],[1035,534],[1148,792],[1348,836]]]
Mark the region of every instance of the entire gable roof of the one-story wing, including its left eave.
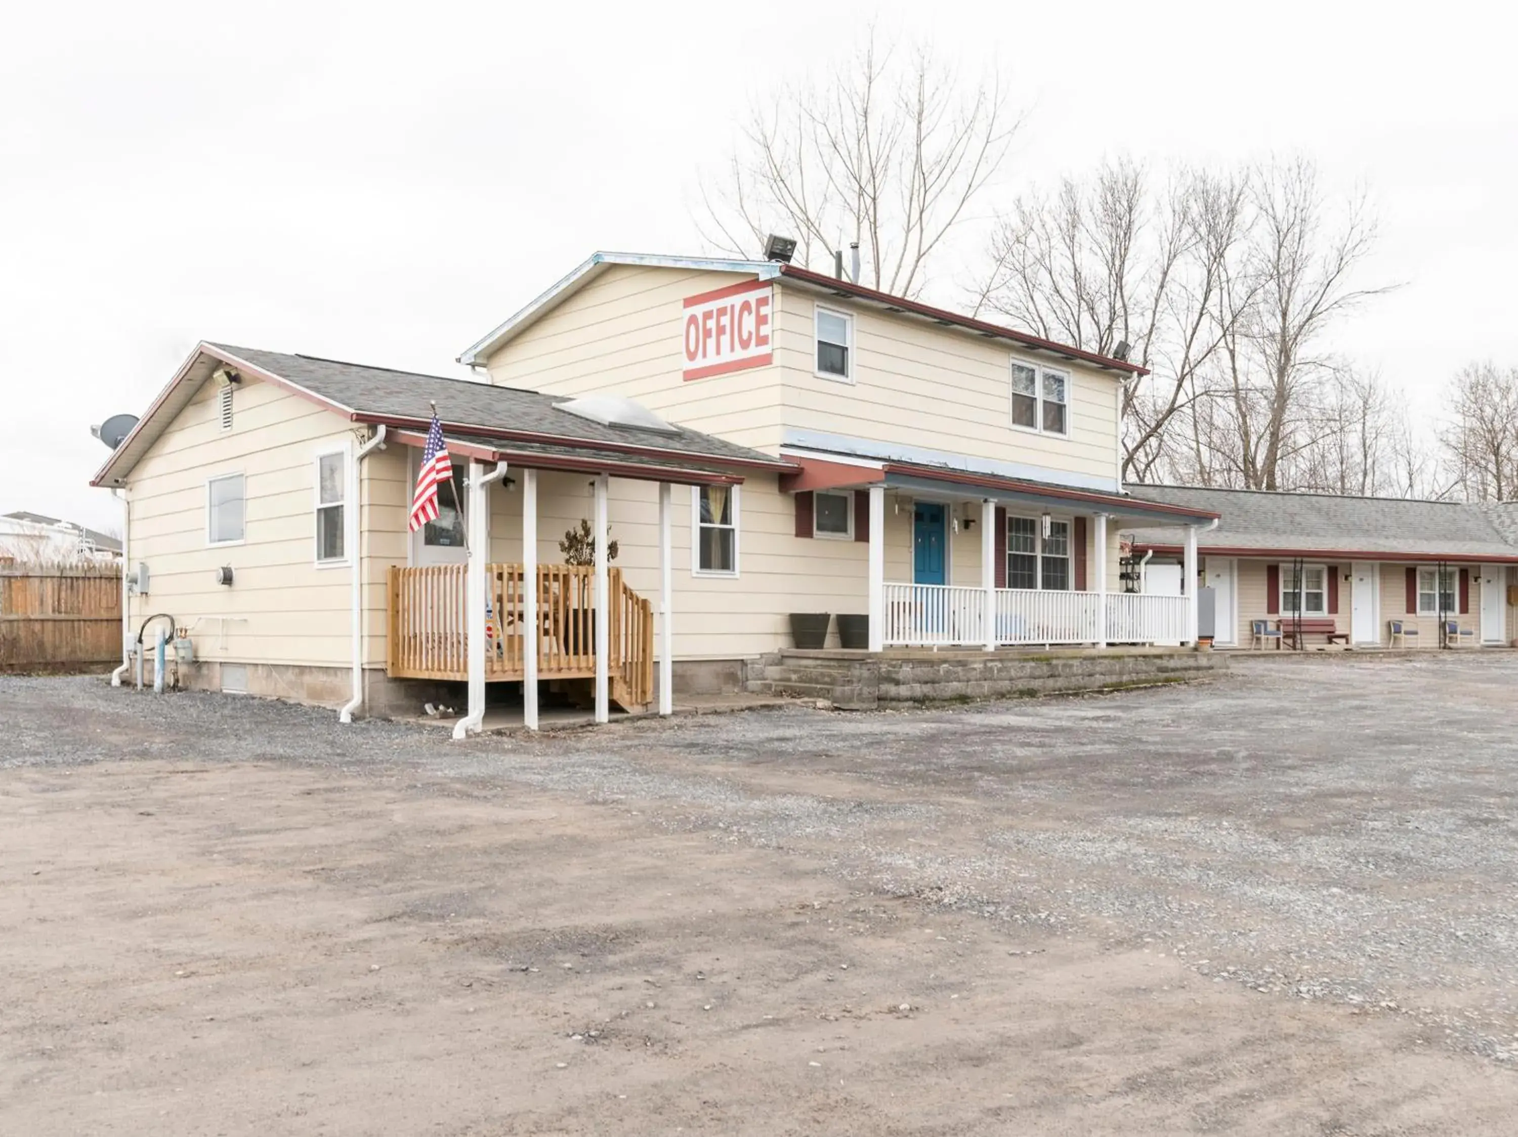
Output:
[[[386,424],[425,431],[433,405],[446,431],[498,442],[534,443],[595,451],[627,458],[624,465],[698,469],[789,471],[791,463],[685,427],[650,431],[603,425],[560,410],[566,395],[496,387],[466,378],[420,375],[313,355],[287,355],[258,348],[202,343],[170,380],[158,399],[91,480],[121,484],[159,434],[185,408],[219,366],[273,383],[317,402],[351,422]],[[504,452],[505,448],[502,448]],[[528,451],[521,449],[521,454]],[[607,458],[610,460],[610,458]]]

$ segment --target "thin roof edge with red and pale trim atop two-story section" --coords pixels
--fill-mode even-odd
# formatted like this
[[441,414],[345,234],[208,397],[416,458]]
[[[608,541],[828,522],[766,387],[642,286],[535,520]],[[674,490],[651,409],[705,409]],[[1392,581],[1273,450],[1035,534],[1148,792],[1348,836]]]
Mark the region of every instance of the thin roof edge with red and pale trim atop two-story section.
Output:
[[906,299],[905,296],[893,296],[890,293],[876,291],[874,288],[867,288],[862,284],[853,284],[847,279],[827,276],[820,272],[812,272],[811,269],[802,269],[795,264],[783,264],[780,261],[723,260],[712,257],[663,257],[641,252],[591,254],[591,257],[556,281],[546,291],[540,293],[524,308],[507,317],[504,323],[492,328],[487,335],[465,348],[465,351],[458,355],[458,363],[463,363],[468,367],[483,366],[490,355],[510,343],[518,334],[533,326],[533,323],[591,284],[607,269],[618,264],[654,269],[686,269],[691,272],[729,272],[754,276],[761,281],[785,278],[786,281],[792,281],[809,290],[827,291],[836,296],[847,296],[855,301],[873,304],[887,313],[897,316],[918,316],[944,328],[962,328],[987,339],[1008,340],[1020,348],[1050,352],[1066,360],[1088,363],[1102,370],[1116,372],[1117,375],[1149,373],[1145,367],[1129,363],[1128,360],[1116,360],[1110,355],[1101,355],[1082,348],[1055,343],[1053,340],[1031,335],[1029,332],[1017,331],[1016,328],[988,323],[987,320],[949,311],[947,308],[935,308],[929,304]]

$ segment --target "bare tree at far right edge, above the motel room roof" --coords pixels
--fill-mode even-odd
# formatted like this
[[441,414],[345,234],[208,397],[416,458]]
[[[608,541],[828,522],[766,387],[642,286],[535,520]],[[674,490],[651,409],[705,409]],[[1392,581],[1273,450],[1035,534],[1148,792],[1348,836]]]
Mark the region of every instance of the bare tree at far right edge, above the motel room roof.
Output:
[[1518,367],[1469,363],[1454,380],[1454,420],[1439,436],[1466,501],[1518,495]]

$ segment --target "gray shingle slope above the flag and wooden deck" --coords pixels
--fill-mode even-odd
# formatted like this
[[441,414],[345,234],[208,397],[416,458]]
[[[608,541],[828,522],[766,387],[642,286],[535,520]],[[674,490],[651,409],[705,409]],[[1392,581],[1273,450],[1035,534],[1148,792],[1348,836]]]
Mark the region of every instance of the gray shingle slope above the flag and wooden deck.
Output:
[[568,402],[565,395],[496,387],[465,378],[419,375],[414,372],[369,367],[340,360],[323,360],[313,355],[285,355],[284,352],[257,348],[232,348],[208,345],[261,370],[278,375],[313,395],[319,395],[358,414],[380,419],[420,419],[433,414],[445,425],[468,431],[493,434],[548,436],[560,445],[610,443],[609,451],[621,446],[642,446],[650,451],[668,451],[669,461],[683,458],[707,463],[762,463],[786,468],[789,463],[770,454],[739,446],[724,439],[700,431],[676,427],[674,433],[638,430],[635,427],[606,427],[578,414],[557,410]]

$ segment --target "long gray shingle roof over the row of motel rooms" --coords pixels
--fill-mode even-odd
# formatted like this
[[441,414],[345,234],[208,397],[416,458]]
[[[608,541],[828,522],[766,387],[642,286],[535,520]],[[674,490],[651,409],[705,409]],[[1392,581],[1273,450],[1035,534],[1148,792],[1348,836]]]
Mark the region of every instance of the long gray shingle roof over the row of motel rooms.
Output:
[[[1222,515],[1202,548],[1510,557],[1518,560],[1518,504],[1354,498],[1327,493],[1134,486],[1155,501]],[[1125,530],[1137,545],[1173,545],[1175,530]]]

